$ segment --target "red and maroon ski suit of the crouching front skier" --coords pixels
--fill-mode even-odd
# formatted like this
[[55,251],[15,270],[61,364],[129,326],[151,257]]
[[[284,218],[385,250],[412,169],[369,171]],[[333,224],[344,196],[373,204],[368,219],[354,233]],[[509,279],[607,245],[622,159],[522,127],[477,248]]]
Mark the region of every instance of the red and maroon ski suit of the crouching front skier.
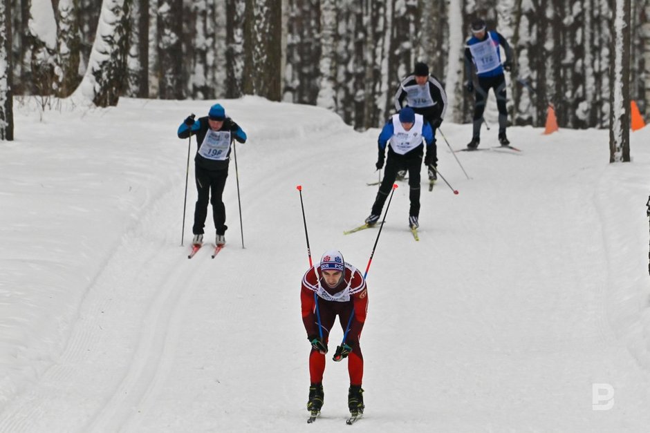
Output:
[[[318,276],[316,275],[318,273]],[[316,294],[316,296],[314,296]],[[363,355],[359,345],[361,330],[366,321],[368,308],[368,287],[358,269],[345,264],[344,276],[336,287],[329,287],[322,277],[320,266],[310,267],[302,278],[300,291],[302,321],[308,337],[319,336],[316,302],[320,314],[323,340],[328,342],[336,316],[345,331],[350,315],[354,317],[345,343],[352,347],[348,356],[348,372],[351,385],[361,385],[363,378]],[[315,349],[309,354],[309,376],[311,383],[321,383],[325,371],[325,355]]]

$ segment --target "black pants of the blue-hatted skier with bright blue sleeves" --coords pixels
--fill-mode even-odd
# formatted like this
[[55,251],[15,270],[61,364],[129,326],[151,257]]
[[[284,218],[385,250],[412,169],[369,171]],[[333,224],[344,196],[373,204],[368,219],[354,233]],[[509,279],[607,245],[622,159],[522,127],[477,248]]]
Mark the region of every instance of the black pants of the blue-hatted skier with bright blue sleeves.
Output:
[[420,146],[414,148],[409,153],[400,155],[393,152],[393,149],[389,146],[384,179],[382,179],[382,184],[379,186],[379,191],[371,211],[373,215],[382,214],[384,203],[393,189],[397,172],[407,170],[409,171],[409,200],[411,201],[409,216],[420,216],[420,169],[424,148],[425,146],[420,144]]

